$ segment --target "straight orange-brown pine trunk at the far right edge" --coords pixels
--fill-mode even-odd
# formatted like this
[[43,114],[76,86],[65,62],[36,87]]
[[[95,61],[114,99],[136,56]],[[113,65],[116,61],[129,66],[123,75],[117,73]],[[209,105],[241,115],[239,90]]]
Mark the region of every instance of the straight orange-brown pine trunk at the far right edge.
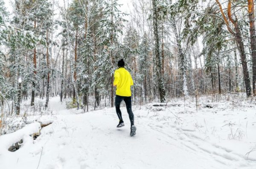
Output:
[[253,61],[253,95],[256,96],[256,33],[255,33],[255,16],[254,16],[254,0],[248,0],[248,13],[250,21],[250,44],[252,50]]

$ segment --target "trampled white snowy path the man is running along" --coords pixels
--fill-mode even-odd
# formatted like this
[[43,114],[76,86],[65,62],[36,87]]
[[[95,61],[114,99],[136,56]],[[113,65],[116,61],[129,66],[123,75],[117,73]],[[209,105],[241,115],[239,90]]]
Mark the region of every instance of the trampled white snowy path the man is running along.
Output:
[[[50,106],[53,111],[58,110],[54,123],[41,130],[34,144],[5,157],[0,155],[1,166],[36,169],[40,156],[39,169],[253,169],[256,166],[255,161],[209,143],[191,129],[138,116],[139,110],[134,111],[137,135],[130,137],[125,108],[121,109],[125,126],[117,129],[114,109],[73,114],[56,99],[51,99]],[[9,163],[10,159],[14,163]]]

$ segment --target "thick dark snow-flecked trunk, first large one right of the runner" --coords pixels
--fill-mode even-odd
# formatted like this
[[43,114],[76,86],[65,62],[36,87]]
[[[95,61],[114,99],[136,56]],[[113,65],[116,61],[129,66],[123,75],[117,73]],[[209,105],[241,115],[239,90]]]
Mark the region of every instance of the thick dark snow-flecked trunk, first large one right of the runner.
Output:
[[155,42],[155,61],[157,66],[157,80],[158,80],[158,89],[160,94],[160,102],[165,102],[165,87],[161,72],[161,59],[159,51],[159,37],[158,37],[158,22],[157,22],[157,0],[152,0],[153,2],[153,24],[154,24],[154,42]]

